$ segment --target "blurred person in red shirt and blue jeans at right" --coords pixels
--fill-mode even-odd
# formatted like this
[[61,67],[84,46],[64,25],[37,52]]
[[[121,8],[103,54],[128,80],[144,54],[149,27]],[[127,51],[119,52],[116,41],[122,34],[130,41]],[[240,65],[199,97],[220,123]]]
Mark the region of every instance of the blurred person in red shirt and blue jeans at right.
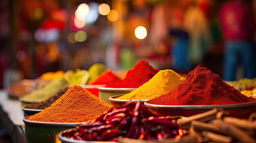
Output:
[[255,77],[255,60],[252,39],[253,13],[250,1],[231,0],[220,9],[220,21],[225,38],[223,79],[234,81],[238,64],[244,66],[243,77]]

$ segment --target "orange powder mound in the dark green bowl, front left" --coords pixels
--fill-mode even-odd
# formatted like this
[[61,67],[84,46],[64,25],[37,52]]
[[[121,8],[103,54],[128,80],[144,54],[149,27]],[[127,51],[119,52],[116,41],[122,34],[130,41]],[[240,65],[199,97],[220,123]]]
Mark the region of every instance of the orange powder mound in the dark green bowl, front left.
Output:
[[27,120],[39,122],[77,123],[96,119],[113,107],[81,86],[71,86],[62,97],[42,112]]

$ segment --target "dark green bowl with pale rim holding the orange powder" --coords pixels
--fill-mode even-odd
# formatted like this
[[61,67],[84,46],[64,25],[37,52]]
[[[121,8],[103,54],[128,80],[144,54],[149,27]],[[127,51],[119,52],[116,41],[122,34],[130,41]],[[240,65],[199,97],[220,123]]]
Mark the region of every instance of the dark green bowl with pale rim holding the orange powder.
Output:
[[23,118],[27,143],[55,143],[57,133],[81,124],[29,121],[27,120],[28,117]]

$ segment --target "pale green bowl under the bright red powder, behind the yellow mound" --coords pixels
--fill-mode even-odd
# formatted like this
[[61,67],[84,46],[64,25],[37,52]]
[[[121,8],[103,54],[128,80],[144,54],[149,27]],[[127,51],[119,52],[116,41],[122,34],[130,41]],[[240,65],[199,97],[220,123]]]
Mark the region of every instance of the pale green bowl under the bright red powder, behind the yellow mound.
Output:
[[110,104],[109,97],[113,95],[124,95],[127,93],[132,92],[137,88],[106,88],[106,87],[99,87],[99,98],[106,101]]

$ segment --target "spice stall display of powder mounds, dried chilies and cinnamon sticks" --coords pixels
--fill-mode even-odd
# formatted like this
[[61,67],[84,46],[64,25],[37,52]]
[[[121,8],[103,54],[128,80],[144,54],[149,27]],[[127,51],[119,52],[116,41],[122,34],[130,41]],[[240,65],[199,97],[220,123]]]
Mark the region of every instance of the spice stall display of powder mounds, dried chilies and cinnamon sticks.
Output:
[[[90,74],[81,73],[81,70],[72,74],[67,71],[64,78],[49,81],[26,95],[17,95],[20,101],[9,98],[8,94],[12,92],[2,91],[1,122],[7,125],[13,141],[256,141],[256,99],[248,92],[254,91],[255,79],[227,84],[219,75],[200,65],[186,77],[181,77],[173,70],[158,70],[142,60],[122,79],[110,69],[103,70],[90,82],[106,79],[98,87],[99,95],[93,95],[83,87],[87,84],[81,84],[88,83],[88,76]],[[114,81],[113,77],[116,77]],[[58,82],[58,86],[54,82]],[[62,88],[55,94],[48,93],[49,85],[56,88],[61,85]],[[240,90],[234,87],[240,87]],[[241,93],[245,90],[247,96]],[[44,92],[43,96],[34,94],[40,93],[38,91]]]

